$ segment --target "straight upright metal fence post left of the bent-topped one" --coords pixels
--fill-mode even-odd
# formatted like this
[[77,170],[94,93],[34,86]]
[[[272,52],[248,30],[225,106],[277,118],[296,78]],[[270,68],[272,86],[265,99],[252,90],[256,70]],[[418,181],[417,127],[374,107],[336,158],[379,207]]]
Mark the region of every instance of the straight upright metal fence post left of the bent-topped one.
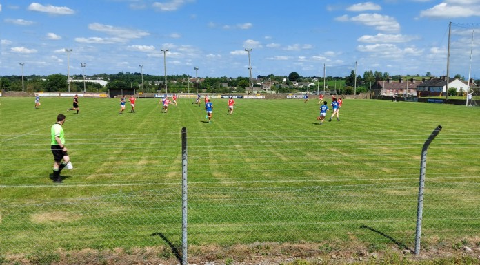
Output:
[[181,128],[181,264],[187,262],[187,128]]

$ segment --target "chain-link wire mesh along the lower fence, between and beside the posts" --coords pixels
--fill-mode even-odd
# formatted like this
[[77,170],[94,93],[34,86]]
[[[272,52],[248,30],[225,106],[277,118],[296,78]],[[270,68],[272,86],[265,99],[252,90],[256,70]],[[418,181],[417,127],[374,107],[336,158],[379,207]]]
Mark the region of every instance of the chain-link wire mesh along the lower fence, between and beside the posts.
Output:
[[[189,244],[370,242],[414,247],[416,182],[304,187],[188,187]],[[74,200],[3,201],[1,252],[173,246],[181,253],[181,188]],[[426,184],[422,244],[480,233],[480,185]]]

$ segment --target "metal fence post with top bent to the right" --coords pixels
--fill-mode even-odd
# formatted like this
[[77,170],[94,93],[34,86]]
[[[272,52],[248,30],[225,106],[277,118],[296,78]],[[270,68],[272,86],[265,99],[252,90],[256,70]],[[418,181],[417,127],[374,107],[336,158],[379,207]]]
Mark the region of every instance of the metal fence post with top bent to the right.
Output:
[[425,170],[427,165],[427,149],[432,140],[439,134],[441,125],[437,126],[432,131],[432,134],[428,136],[428,139],[423,144],[421,149],[421,162],[420,162],[420,181],[419,181],[419,202],[417,207],[417,230],[415,232],[415,255],[420,254],[420,237],[421,237],[421,219],[423,215],[423,189],[425,188]]

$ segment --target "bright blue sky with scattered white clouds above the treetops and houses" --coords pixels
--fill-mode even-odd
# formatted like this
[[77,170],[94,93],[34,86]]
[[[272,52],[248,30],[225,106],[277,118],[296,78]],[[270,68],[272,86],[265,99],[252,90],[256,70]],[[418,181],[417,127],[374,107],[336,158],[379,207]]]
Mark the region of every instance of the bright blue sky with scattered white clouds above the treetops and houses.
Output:
[[450,35],[449,75],[480,78],[480,0],[0,0],[0,23],[0,76],[444,76]]

